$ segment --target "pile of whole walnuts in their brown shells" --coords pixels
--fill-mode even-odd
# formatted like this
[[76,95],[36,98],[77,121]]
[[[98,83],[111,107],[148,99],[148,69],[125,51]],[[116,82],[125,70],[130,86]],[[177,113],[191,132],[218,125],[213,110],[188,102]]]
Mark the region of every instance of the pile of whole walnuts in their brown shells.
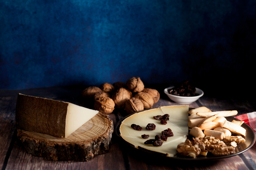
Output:
[[143,111],[151,108],[160,98],[156,89],[144,88],[139,77],[130,78],[126,84],[103,83],[100,87],[88,87],[83,90],[82,96],[94,100],[94,109],[104,114],[112,113],[115,108],[125,109],[128,114]]

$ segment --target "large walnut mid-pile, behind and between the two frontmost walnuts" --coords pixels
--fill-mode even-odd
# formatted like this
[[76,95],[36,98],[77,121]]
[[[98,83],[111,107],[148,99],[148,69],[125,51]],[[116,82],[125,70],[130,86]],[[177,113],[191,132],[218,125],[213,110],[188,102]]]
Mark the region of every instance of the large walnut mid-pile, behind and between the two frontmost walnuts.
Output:
[[114,92],[112,95],[112,99],[115,102],[116,108],[124,108],[126,100],[132,98],[131,91],[127,90],[126,88],[119,88]]

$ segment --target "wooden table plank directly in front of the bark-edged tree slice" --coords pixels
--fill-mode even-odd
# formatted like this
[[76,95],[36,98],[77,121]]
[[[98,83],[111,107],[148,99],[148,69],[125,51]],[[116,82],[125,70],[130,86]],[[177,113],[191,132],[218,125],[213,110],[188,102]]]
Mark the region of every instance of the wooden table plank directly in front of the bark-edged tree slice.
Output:
[[[119,151],[118,151],[119,150]],[[88,162],[53,161],[27,153],[19,141],[15,142],[6,170],[20,169],[125,169],[118,144],[110,145],[108,153],[95,156]]]

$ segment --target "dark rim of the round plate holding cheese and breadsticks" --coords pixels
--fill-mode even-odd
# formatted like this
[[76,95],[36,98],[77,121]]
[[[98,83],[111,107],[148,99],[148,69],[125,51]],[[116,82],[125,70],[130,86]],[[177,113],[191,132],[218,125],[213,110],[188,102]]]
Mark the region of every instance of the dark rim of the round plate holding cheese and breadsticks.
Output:
[[[154,108],[152,108],[152,109],[154,109]],[[194,109],[194,108],[189,107],[189,110],[190,109]],[[150,110],[150,109],[146,109],[146,110]],[[145,111],[145,110],[143,110],[143,111]],[[140,112],[143,112],[143,111],[140,111]],[[233,154],[230,154],[230,155],[224,155],[224,156],[210,156],[210,157],[205,156],[205,157],[196,157],[196,158],[193,158],[193,157],[179,157],[179,156],[168,157],[168,156],[166,156],[166,154],[163,154],[163,153],[160,153],[160,152],[154,152],[154,151],[146,150],[146,149],[141,148],[141,147],[136,148],[131,143],[127,142],[124,138],[122,138],[122,136],[120,136],[121,133],[120,133],[119,129],[120,129],[120,125],[121,125],[122,121],[124,121],[126,118],[130,117],[131,115],[136,114],[136,113],[140,113],[140,112],[135,112],[135,113],[129,114],[129,115],[123,117],[122,119],[120,119],[116,123],[115,134],[118,137],[118,139],[121,140],[123,143],[125,143],[126,145],[129,145],[130,147],[132,147],[134,149],[138,149],[142,152],[147,152],[147,153],[151,153],[151,154],[158,154],[159,156],[163,156],[163,157],[170,158],[170,159],[179,159],[179,160],[193,160],[193,161],[194,160],[218,160],[218,159],[224,159],[224,158],[229,158],[229,157],[232,157],[232,156],[239,155],[239,154],[247,151],[248,149],[250,149],[256,141],[256,135],[255,135],[253,129],[249,125],[247,125],[246,123],[243,123],[243,126],[246,126],[247,129],[250,129],[251,133],[253,132],[254,135],[253,135],[252,143],[250,143],[250,145],[247,148],[245,148],[244,150],[242,150],[240,152],[233,153]],[[232,116],[229,116],[228,119],[240,121],[239,119],[237,119],[235,117],[232,117]]]

